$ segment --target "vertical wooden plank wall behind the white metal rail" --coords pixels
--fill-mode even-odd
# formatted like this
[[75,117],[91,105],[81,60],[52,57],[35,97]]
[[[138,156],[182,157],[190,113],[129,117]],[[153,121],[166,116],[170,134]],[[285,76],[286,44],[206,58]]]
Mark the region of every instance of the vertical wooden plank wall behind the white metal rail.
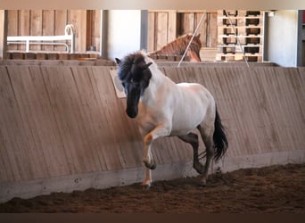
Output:
[[[76,52],[86,52],[89,45],[100,48],[99,10],[9,10],[8,36],[64,35],[72,24],[76,33]],[[10,45],[8,50],[24,50],[24,45]],[[62,51],[58,45],[32,45],[31,50]]]

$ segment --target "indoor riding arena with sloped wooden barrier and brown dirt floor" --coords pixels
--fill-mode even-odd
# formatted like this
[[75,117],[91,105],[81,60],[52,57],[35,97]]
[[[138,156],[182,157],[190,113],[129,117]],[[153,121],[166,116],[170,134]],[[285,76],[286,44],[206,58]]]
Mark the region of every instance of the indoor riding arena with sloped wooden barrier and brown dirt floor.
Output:
[[[135,22],[135,43],[120,40],[120,16]],[[0,213],[305,212],[305,12],[0,10],[0,24]],[[296,29],[285,45],[279,26]],[[227,153],[201,186],[192,146],[158,138],[146,188],[144,140],[114,58],[185,34],[199,38],[200,62],[187,44],[152,60],[210,91]]]

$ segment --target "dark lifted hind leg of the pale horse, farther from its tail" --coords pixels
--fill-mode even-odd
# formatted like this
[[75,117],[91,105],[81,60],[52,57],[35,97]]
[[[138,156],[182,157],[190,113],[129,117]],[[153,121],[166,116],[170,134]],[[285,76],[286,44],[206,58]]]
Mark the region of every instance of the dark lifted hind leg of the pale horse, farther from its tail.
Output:
[[196,169],[196,171],[199,174],[203,173],[203,166],[202,163],[199,162],[198,160],[198,136],[194,133],[189,133],[185,136],[178,136],[181,140],[183,140],[185,143],[188,143],[193,146],[193,151],[194,151],[194,161],[193,161],[193,167]]

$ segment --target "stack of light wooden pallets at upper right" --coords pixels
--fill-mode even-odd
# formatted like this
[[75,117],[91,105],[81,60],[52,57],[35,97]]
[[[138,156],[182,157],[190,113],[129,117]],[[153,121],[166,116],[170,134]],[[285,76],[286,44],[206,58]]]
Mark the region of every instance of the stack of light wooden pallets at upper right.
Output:
[[263,12],[218,10],[218,61],[262,62],[263,37]]

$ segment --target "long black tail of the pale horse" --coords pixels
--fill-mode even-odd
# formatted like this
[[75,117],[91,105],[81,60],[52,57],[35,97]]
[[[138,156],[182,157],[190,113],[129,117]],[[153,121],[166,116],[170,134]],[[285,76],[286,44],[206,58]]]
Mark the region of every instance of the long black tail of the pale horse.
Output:
[[221,124],[221,120],[216,108],[216,117],[214,123],[214,134],[213,134],[213,141],[214,141],[214,148],[215,148],[215,155],[214,160],[218,161],[223,155],[227,152],[227,135],[225,128]]

